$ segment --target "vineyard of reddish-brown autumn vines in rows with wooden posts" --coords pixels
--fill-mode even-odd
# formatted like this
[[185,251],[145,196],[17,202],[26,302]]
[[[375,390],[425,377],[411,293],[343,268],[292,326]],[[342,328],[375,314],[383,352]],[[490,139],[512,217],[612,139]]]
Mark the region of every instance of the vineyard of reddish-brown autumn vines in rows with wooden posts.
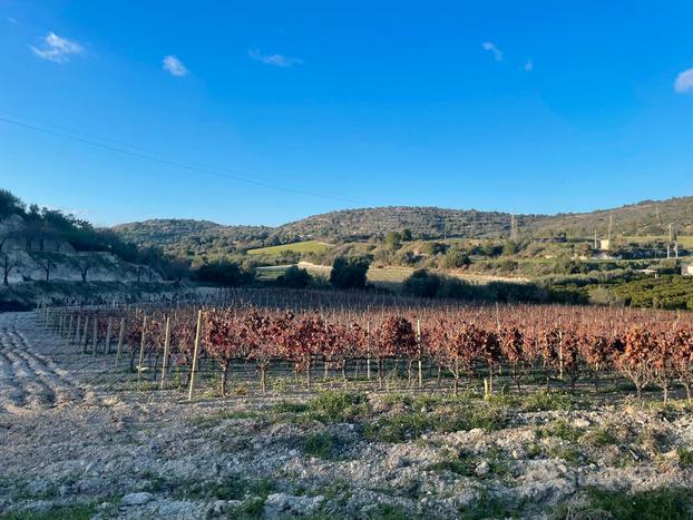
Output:
[[[45,306],[42,323],[82,355],[115,356],[140,384],[222,396],[235,383],[266,394],[270,380],[369,390],[574,392],[660,389],[691,401],[689,314],[533,305],[430,305],[320,293],[235,291],[216,305]],[[614,386],[615,385],[615,386]]]

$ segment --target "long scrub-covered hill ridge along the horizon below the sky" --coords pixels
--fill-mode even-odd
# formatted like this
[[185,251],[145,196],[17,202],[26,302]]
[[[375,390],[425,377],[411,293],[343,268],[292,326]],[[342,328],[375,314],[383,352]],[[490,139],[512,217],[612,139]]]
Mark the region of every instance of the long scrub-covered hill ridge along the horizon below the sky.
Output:
[[[297,241],[368,239],[408,228],[414,238],[510,236],[511,215],[476,209],[390,206],[344,209],[310,216],[277,227],[224,226],[207,220],[153,219],[121,224],[113,229],[137,245],[159,245],[168,253],[223,255],[238,247],[254,248]],[[693,197],[644,200],[618,208],[580,214],[517,215],[520,235],[590,237],[606,235],[609,218],[614,235],[656,236],[668,232],[693,235]]]

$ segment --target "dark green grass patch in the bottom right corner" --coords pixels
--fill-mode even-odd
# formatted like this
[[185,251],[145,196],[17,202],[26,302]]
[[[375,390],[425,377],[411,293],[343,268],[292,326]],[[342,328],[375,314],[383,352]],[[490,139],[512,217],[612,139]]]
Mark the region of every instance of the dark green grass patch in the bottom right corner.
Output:
[[660,488],[629,493],[588,488],[588,503],[567,511],[564,518],[617,520],[679,520],[691,518],[693,494],[685,488]]

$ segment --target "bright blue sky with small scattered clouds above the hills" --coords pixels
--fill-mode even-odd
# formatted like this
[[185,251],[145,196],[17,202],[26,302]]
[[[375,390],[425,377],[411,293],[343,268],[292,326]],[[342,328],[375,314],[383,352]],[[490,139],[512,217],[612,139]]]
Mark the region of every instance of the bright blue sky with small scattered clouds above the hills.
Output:
[[690,0],[0,0],[0,186],[97,224],[691,195],[692,28]]

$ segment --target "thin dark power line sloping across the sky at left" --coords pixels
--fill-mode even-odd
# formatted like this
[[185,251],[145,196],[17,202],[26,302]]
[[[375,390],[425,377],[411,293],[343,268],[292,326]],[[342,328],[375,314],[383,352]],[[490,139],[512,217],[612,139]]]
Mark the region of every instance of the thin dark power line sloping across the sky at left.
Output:
[[[4,110],[2,110],[3,112],[6,112]],[[6,112],[9,114],[9,112]],[[18,116],[14,115],[14,117],[19,117],[22,119],[29,119],[31,120],[32,118],[25,118],[23,116]],[[38,122],[38,120],[33,119],[35,121]],[[330,199],[330,200],[339,200],[339,202],[344,202],[344,203],[352,203],[352,204],[377,204],[372,200],[364,200],[364,199],[355,199],[355,198],[348,198],[348,197],[340,197],[336,195],[329,195],[329,194],[323,194],[323,193],[318,193],[318,192],[311,192],[311,190],[306,190],[306,189],[302,189],[302,188],[294,188],[291,186],[282,186],[282,185],[277,185],[277,184],[272,184],[272,183],[265,183],[262,180],[254,180],[254,179],[250,179],[247,177],[243,177],[226,170],[218,170],[216,168],[211,168],[211,167],[206,167],[203,165],[198,165],[195,166],[194,161],[187,160],[187,159],[167,159],[165,158],[166,155],[165,154],[160,154],[157,151],[153,151],[153,150],[147,150],[145,148],[140,148],[137,146],[133,146],[133,145],[127,145],[124,143],[119,143],[119,141],[115,141],[111,139],[104,139],[94,135],[89,135],[89,134],[82,134],[79,131],[74,131],[74,130],[68,130],[66,128],[61,128],[61,127],[57,127],[55,125],[47,125],[47,124],[42,124],[46,126],[53,126],[55,128],[61,128],[61,130],[65,131],[58,131],[58,130],[50,130],[48,128],[41,128],[39,126],[36,125],[30,125],[28,122],[22,122],[22,121],[17,121],[14,119],[9,119],[6,117],[0,116],[0,121],[6,122],[8,125],[14,125],[21,128],[26,128],[29,130],[33,130],[33,131],[39,131],[42,134],[47,134],[47,135],[51,135],[51,136],[57,136],[57,137],[61,137],[65,139],[70,139],[77,143],[81,143],[85,145],[89,145],[89,146],[95,146],[97,148],[101,148],[101,149],[106,149],[106,150],[110,150],[110,151],[117,151],[119,154],[124,154],[124,155],[128,155],[130,157],[137,157],[140,159],[146,159],[146,160],[152,160],[155,163],[160,163],[160,164],[165,164],[168,166],[175,166],[177,168],[183,168],[183,169],[187,169],[187,170],[192,170],[192,171],[197,171],[199,174],[204,174],[204,175],[209,175],[213,177],[218,177],[218,178],[225,178],[225,179],[231,179],[231,180],[236,180],[238,183],[244,183],[247,185],[252,185],[252,186],[258,186],[258,187],[263,187],[263,188],[270,188],[270,189],[276,189],[280,192],[287,192],[287,193],[293,193],[293,194],[299,194],[299,195],[306,195],[306,196],[311,196],[311,197],[318,197],[318,198],[324,198],[324,199]],[[76,135],[70,135],[70,134],[66,134],[66,131],[76,134]],[[82,136],[88,136],[90,138],[87,137],[79,137],[79,135]],[[98,139],[101,140],[104,143],[97,143],[94,139]],[[109,145],[108,143],[111,143],[111,145]],[[131,149],[127,149],[126,147],[129,148],[136,148],[143,151],[135,151]],[[155,155],[159,155],[162,157],[155,157]],[[184,164],[182,160],[185,160],[186,163],[189,164]]]

